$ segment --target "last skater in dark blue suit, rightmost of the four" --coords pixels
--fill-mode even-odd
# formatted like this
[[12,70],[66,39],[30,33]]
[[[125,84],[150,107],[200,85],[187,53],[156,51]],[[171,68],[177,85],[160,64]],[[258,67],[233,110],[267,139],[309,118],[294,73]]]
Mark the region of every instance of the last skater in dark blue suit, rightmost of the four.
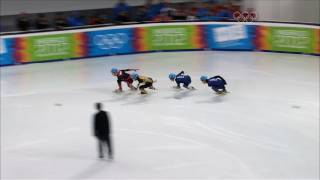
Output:
[[208,78],[207,76],[201,76],[200,80],[203,83],[207,83],[208,86],[211,87],[218,94],[227,93],[225,87],[225,85],[227,85],[227,82],[221,76],[214,76],[211,78]]

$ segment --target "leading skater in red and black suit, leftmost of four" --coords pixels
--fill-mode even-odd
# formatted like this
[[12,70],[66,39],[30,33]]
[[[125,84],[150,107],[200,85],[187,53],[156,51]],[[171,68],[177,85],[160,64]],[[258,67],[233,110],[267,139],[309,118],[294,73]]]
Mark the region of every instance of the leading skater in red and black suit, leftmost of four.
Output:
[[114,76],[117,76],[117,78],[118,78],[118,80],[117,80],[118,89],[116,89],[115,92],[122,92],[122,85],[121,85],[122,81],[126,82],[128,87],[131,90],[136,90],[136,88],[132,85],[133,80],[130,77],[130,74],[127,73],[128,71],[136,71],[136,70],[138,70],[138,69],[121,69],[121,70],[118,70],[117,68],[111,69],[111,74]]

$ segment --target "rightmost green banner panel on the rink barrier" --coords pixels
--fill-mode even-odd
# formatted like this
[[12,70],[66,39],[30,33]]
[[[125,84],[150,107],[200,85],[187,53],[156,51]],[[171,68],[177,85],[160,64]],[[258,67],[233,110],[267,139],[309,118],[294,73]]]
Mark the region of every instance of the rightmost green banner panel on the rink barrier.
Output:
[[269,27],[267,37],[270,50],[284,52],[314,53],[315,33],[311,28]]

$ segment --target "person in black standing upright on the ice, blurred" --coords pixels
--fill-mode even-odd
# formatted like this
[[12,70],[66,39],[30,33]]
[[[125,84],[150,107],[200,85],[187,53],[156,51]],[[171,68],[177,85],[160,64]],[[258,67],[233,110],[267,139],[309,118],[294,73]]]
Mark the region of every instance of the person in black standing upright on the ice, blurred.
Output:
[[94,115],[93,131],[98,140],[99,158],[104,158],[104,152],[108,147],[109,159],[113,159],[111,143],[111,125],[110,118],[106,111],[102,110],[102,104],[96,103],[98,112]]

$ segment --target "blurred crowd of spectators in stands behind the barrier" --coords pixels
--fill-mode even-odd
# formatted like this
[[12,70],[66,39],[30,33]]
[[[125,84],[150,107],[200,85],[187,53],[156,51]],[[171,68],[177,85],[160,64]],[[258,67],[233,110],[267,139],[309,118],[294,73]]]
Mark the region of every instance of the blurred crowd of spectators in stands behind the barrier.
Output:
[[192,3],[170,3],[168,0],[146,0],[143,6],[130,6],[125,0],[119,2],[111,10],[112,13],[97,11],[94,14],[72,12],[55,13],[53,18],[46,14],[37,14],[30,18],[27,13],[21,13],[17,18],[17,28],[21,31],[30,29],[62,29],[84,25],[99,25],[107,23],[128,22],[167,22],[173,20],[188,21],[230,21],[233,12],[239,11],[240,6],[232,0],[223,3],[215,0],[197,1]]

